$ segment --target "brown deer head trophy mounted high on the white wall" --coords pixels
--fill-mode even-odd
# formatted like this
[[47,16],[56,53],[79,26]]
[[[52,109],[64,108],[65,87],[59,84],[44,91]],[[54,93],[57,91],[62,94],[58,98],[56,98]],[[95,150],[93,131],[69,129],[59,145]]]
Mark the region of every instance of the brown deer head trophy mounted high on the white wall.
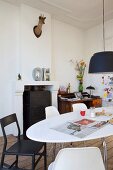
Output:
[[45,24],[45,19],[46,17],[44,17],[44,15],[40,15],[38,25],[35,25],[33,28],[33,32],[37,38],[39,38],[42,34],[42,25]]

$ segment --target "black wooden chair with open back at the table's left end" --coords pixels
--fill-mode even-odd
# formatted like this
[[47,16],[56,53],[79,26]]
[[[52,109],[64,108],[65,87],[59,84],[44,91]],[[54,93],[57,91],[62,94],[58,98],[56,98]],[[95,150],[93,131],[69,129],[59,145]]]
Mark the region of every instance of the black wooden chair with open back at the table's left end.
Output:
[[[7,142],[7,135],[6,135],[5,127],[14,122],[16,123],[17,130],[18,130],[17,142],[7,149],[8,142]],[[3,168],[5,165],[6,155],[15,155],[16,160],[9,166],[9,168],[12,168],[14,166],[18,167],[19,156],[31,156],[32,157],[32,170],[35,169],[37,163],[40,161],[42,157],[44,157],[44,170],[46,170],[47,169],[46,143],[21,139],[20,127],[19,127],[19,123],[18,123],[15,113],[0,119],[0,123],[1,123],[2,132],[3,132],[3,138],[4,138],[4,146],[3,146],[2,156],[1,156],[1,168]],[[36,155],[38,155],[37,160],[35,160]]]

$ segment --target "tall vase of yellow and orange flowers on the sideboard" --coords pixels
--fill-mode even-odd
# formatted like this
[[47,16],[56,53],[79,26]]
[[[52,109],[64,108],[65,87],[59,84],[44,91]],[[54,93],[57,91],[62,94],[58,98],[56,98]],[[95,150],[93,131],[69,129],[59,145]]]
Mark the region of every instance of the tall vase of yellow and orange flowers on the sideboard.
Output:
[[83,92],[83,77],[86,68],[86,63],[83,60],[79,62],[76,61],[76,63],[73,60],[70,61],[74,64],[75,70],[78,71],[77,74],[77,80],[79,80],[78,91]]

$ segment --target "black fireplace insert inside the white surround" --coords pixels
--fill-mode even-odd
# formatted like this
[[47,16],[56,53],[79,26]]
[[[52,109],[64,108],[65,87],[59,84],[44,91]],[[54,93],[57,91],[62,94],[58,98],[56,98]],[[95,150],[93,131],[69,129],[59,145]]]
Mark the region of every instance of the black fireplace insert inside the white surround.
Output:
[[25,86],[23,93],[23,136],[36,122],[45,119],[45,107],[51,105],[51,92],[44,86]]

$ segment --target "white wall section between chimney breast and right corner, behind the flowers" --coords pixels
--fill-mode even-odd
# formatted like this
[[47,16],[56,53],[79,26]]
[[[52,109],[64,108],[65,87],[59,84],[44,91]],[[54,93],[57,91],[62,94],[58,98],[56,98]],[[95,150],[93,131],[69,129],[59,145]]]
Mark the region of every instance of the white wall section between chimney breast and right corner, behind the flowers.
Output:
[[84,58],[83,31],[71,25],[52,20],[52,62],[54,77],[60,85],[71,84],[71,91],[78,90],[77,72],[71,59]]

